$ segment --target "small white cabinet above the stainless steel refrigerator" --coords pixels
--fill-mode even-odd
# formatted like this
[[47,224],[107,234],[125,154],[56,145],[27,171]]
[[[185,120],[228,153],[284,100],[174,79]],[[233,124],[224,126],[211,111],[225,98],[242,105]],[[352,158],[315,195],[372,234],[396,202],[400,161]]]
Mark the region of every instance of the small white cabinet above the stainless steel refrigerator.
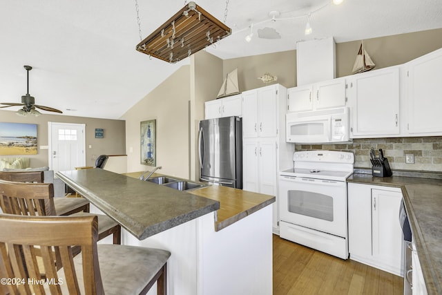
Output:
[[241,95],[232,95],[204,103],[205,118],[213,119],[218,117],[242,116]]

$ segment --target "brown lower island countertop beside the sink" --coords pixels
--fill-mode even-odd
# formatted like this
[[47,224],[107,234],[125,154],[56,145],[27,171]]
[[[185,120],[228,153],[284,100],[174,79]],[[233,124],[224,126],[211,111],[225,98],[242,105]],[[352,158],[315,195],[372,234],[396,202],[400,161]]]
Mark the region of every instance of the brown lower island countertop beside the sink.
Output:
[[[143,172],[124,173],[133,178],[138,178]],[[155,173],[153,177],[162,174]],[[202,189],[188,191],[189,193],[216,200],[220,202],[220,209],[217,211],[217,220],[215,221],[215,231],[220,231],[229,225],[249,216],[267,205],[275,202],[275,196],[269,196],[262,193],[252,193],[242,189],[232,189],[231,187],[220,187],[211,185]]]

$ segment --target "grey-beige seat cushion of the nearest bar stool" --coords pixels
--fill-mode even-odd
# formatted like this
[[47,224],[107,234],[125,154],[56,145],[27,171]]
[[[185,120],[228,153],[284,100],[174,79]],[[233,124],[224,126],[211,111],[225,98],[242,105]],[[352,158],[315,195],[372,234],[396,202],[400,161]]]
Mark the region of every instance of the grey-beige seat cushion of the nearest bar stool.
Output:
[[[106,295],[140,294],[171,256],[171,252],[145,247],[97,245],[99,270]],[[74,258],[81,290],[84,290],[81,253]],[[65,281],[63,269],[59,278]],[[66,284],[61,285],[63,294]]]

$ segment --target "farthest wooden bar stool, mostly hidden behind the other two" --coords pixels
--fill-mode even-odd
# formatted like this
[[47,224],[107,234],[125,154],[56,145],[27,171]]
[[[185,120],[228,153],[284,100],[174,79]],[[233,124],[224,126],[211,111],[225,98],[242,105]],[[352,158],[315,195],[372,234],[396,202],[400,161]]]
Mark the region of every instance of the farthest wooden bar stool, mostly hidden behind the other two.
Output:
[[[43,171],[0,171],[0,180],[12,182],[44,182]],[[89,201],[85,198],[54,198],[57,215],[89,212]]]

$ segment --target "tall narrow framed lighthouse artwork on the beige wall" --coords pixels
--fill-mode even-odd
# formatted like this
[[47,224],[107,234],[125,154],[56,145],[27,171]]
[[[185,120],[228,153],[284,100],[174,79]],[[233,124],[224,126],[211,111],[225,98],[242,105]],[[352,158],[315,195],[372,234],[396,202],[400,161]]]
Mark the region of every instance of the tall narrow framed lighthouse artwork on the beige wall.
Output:
[[141,164],[156,166],[156,120],[143,121],[140,124],[141,131]]

